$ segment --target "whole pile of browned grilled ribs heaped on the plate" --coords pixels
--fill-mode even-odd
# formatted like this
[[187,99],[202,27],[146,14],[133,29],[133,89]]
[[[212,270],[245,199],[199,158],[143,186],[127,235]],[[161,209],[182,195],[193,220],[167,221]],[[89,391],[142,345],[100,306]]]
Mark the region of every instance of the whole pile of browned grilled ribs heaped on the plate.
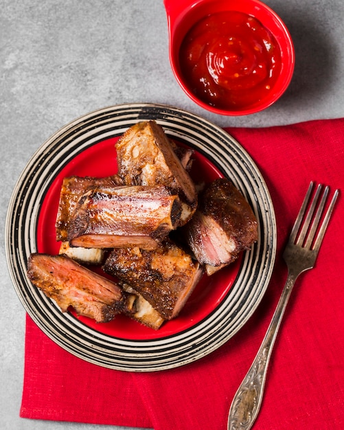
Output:
[[[65,255],[32,254],[27,274],[63,312],[73,306],[98,322],[124,313],[157,330],[179,315],[204,270],[211,275],[253,245],[257,220],[227,179],[197,195],[187,172],[193,150],[176,146],[156,122],[130,127],[116,149],[117,174],[63,181],[56,240]],[[103,270],[116,282],[71,260],[101,264],[106,249]]]

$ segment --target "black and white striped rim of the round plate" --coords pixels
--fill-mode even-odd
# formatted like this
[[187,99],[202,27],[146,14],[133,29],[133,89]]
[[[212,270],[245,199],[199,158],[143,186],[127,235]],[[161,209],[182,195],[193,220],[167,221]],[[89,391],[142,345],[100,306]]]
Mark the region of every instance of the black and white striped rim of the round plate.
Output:
[[[259,239],[244,254],[238,276],[221,304],[183,332],[151,340],[119,339],[93,330],[58,307],[27,279],[27,257],[36,251],[37,221],[47,190],[73,157],[98,142],[122,135],[136,122],[156,120],[172,138],[207,157],[242,191],[259,222]],[[257,166],[222,128],[198,115],[157,104],[123,104],[84,115],[52,135],[19,178],[5,225],[6,257],[25,310],[45,334],[72,354],[104,367],[152,372],[191,363],[238,332],[262,299],[276,253],[271,197]]]

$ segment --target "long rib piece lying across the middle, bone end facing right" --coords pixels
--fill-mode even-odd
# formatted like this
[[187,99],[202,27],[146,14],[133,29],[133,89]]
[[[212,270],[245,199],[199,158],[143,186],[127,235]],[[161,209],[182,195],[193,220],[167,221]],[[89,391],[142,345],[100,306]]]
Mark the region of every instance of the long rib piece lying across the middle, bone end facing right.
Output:
[[162,185],[91,188],[73,211],[68,240],[76,247],[152,249],[180,214],[179,197]]

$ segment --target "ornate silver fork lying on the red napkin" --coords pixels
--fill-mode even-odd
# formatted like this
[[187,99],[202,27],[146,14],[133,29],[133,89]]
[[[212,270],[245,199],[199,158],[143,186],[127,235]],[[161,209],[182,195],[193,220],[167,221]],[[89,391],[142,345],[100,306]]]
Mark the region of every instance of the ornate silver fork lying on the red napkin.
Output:
[[322,216],[329,187],[326,186],[321,195],[323,187],[319,184],[311,199],[313,185],[314,182],[311,182],[284,249],[283,258],[288,267],[286,284],[262,345],[231,403],[228,430],[249,430],[253,426],[262,404],[268,362],[290,293],[297,277],[302,272],[312,269],[317,259],[339,190],[334,192],[330,205]]

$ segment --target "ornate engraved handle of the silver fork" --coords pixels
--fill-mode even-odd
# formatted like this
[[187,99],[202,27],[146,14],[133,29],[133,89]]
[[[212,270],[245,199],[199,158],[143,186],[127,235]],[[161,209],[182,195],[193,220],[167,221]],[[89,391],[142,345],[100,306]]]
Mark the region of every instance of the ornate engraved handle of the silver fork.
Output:
[[286,284],[284,285],[282,295],[279,298],[262,345],[231,403],[228,430],[249,430],[253,426],[255,418],[257,418],[260,405],[262,404],[266,372],[271,352],[297,275],[298,273],[288,272]]

